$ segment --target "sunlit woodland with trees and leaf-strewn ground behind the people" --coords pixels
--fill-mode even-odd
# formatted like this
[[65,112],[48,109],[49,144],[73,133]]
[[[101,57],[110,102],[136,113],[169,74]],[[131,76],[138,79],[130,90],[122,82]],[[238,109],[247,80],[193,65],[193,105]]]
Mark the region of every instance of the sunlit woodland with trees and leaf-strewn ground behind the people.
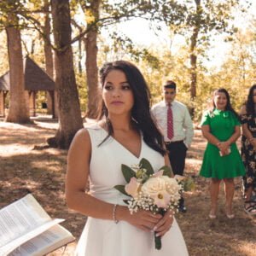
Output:
[[[145,40],[139,42],[139,36]],[[135,63],[148,82],[152,103],[161,99],[164,81],[175,80],[177,99],[189,107],[195,125],[212,90],[229,90],[238,111],[256,81],[253,0],[0,0],[0,39],[0,76],[8,70],[10,76],[6,116],[0,119],[0,208],[32,192],[52,217],[67,218],[65,226],[77,238],[85,219],[67,210],[66,149],[84,117],[96,117],[98,69],[104,62]],[[26,55],[55,81],[57,120],[40,122],[30,116]],[[38,113],[51,113],[48,98],[38,92]],[[48,109],[42,108],[43,102]],[[205,144],[195,130],[185,175],[195,177],[197,189],[186,194],[187,215],[177,216],[189,253],[255,255],[255,219],[242,211],[240,179],[234,222],[225,218],[223,200],[218,220],[207,218],[207,180],[198,177]],[[61,203],[56,206],[49,198]]]

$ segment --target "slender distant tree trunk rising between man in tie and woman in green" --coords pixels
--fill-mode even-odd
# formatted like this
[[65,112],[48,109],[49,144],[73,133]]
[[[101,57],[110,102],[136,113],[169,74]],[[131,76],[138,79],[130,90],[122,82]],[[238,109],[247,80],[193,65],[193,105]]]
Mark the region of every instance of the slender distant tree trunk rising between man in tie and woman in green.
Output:
[[196,73],[196,61],[197,61],[197,55],[196,55],[196,43],[198,38],[198,33],[200,31],[200,17],[201,17],[201,0],[195,0],[196,4],[196,22],[195,26],[193,28],[193,34],[190,38],[190,98],[191,100],[195,100],[196,97],[196,79],[197,79],[197,73]]

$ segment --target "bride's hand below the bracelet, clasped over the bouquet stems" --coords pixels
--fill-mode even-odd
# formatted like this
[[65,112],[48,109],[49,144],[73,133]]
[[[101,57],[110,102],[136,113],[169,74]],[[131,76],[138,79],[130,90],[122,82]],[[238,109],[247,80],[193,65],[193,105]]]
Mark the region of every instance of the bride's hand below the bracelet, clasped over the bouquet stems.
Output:
[[160,214],[143,210],[137,210],[132,214],[129,212],[129,215],[126,221],[144,231],[152,231],[162,218]]

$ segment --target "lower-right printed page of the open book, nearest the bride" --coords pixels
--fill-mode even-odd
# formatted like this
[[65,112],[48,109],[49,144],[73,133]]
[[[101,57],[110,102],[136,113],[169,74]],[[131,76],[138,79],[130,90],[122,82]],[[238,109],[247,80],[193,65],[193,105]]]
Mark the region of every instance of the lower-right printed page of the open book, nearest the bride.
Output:
[[32,240],[20,245],[9,256],[40,256],[74,240],[75,238],[69,231],[57,224],[39,236],[32,238]]

